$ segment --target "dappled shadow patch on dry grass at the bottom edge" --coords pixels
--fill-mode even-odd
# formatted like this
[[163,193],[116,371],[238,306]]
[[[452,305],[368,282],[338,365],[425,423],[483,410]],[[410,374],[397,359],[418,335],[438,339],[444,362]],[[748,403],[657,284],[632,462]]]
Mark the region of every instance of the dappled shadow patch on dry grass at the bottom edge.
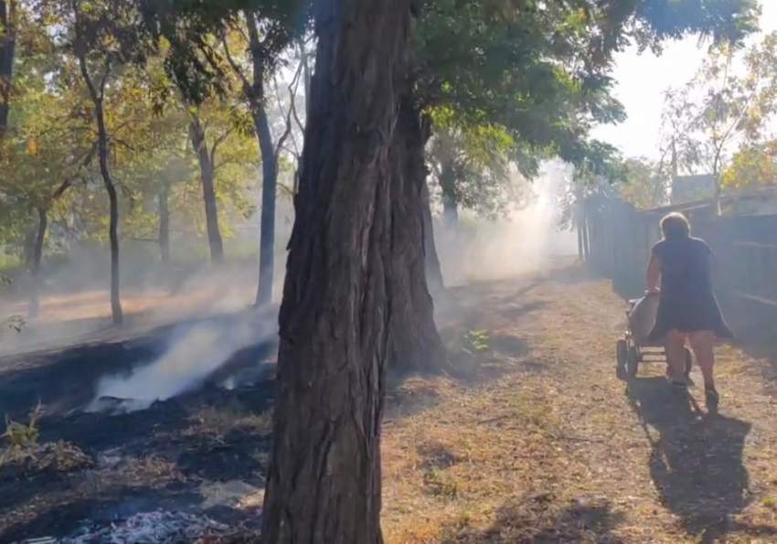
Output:
[[507,503],[484,530],[448,528],[444,544],[622,544],[612,531],[622,522],[606,500],[575,500],[559,505],[550,495]]

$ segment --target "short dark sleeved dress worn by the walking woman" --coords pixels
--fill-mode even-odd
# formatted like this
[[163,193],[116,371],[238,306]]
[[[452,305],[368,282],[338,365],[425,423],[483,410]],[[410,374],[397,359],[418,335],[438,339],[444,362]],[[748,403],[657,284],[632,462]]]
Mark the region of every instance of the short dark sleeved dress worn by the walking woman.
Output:
[[707,243],[691,237],[661,240],[653,246],[653,254],[661,262],[661,293],[648,339],[660,341],[672,330],[712,331],[721,339],[732,337],[712,292],[712,250]]

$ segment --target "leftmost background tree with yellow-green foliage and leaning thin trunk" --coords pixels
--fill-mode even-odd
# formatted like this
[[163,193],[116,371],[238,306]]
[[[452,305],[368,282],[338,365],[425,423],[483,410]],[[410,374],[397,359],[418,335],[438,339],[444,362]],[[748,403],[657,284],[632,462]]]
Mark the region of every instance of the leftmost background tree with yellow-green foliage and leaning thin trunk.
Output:
[[97,149],[80,115],[85,101],[60,80],[49,78],[64,69],[52,37],[46,27],[31,20],[32,13],[15,10],[19,37],[14,66],[16,115],[5,129],[0,190],[7,213],[22,222],[17,235],[14,229],[5,230],[3,239],[6,249],[16,247],[24,257],[31,276],[28,317],[35,317],[49,214],[83,179]]

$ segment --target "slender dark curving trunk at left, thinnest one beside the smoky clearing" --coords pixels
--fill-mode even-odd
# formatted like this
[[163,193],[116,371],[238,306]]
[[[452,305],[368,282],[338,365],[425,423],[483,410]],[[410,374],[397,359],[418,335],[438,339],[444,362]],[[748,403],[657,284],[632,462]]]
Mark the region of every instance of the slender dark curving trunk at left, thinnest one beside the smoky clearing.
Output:
[[97,117],[98,156],[100,158],[100,174],[105,190],[108,192],[110,205],[108,220],[108,239],[111,242],[111,313],[113,325],[122,325],[122,298],[119,293],[119,196],[113,185],[111,172],[108,169],[108,131],[105,129],[105,114],[102,111],[102,99],[95,101],[94,110]]

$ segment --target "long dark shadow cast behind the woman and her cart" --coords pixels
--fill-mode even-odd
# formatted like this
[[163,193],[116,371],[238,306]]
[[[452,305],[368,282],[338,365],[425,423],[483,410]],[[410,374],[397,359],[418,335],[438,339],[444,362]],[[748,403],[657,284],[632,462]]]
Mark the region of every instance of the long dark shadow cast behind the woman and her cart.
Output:
[[733,519],[750,497],[742,461],[750,423],[702,411],[687,390],[672,389],[664,378],[633,379],[626,396],[651,443],[655,489],[687,533],[711,543],[731,532],[767,530]]

